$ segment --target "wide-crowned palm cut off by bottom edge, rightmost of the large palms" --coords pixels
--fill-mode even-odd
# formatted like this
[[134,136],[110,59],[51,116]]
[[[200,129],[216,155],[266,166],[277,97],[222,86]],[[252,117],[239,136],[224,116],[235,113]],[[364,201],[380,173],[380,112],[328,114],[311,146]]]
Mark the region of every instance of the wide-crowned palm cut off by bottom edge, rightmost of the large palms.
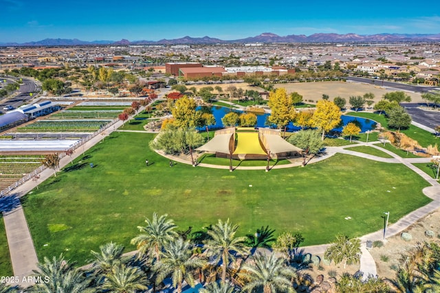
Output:
[[263,289],[264,293],[295,292],[292,281],[297,277],[292,267],[285,266],[284,259],[270,255],[256,254],[254,264],[245,264],[243,274],[249,282],[243,286],[243,291]]

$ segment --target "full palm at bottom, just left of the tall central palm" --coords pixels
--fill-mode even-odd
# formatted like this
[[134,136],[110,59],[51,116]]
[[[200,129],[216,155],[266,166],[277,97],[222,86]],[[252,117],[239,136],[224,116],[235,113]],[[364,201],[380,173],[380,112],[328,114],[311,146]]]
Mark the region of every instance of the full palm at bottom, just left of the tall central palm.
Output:
[[159,272],[157,275],[158,282],[163,281],[171,274],[173,286],[177,288],[177,292],[181,292],[183,281],[186,281],[191,287],[195,286],[192,271],[201,268],[204,261],[192,255],[190,242],[186,242],[180,237],[168,242],[164,246],[162,256],[162,259],[155,265],[155,269]]

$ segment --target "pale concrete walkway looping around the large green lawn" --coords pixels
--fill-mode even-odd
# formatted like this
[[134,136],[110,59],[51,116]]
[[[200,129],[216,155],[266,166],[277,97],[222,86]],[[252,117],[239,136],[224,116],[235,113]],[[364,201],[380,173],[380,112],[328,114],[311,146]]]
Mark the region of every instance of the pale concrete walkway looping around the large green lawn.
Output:
[[[115,125],[116,128],[120,127],[122,125],[122,121],[118,121],[118,123]],[[106,134],[109,135],[111,133],[111,130],[109,130]],[[92,146],[94,146],[96,143],[99,143],[99,141],[102,140],[102,136],[94,137],[94,139],[91,139],[85,144],[85,150],[89,150]],[[437,183],[437,180],[434,180],[428,174],[421,172],[420,169],[412,165],[412,163],[424,163],[429,162],[429,158],[417,158],[417,159],[403,159],[393,152],[389,152],[388,150],[384,150],[383,148],[377,147],[377,145],[373,145],[373,143],[378,142],[370,142],[370,143],[363,143],[358,142],[354,145],[344,145],[342,147],[329,147],[327,148],[327,152],[319,156],[317,158],[312,159],[311,163],[322,161],[330,156],[333,156],[337,152],[340,152],[342,154],[350,154],[353,156],[360,156],[362,158],[371,159],[374,161],[382,161],[385,163],[403,163],[410,169],[412,169],[414,172],[419,174],[419,176],[422,176],[425,180],[430,183],[430,187],[426,187],[423,189],[423,194],[428,196],[429,198],[432,198],[432,202],[430,204],[427,204],[424,207],[421,207],[417,209],[416,211],[412,211],[408,215],[406,215],[404,218],[401,218],[396,223],[389,226],[387,230],[386,236],[395,235],[401,231],[403,231],[405,228],[408,228],[411,224],[414,224],[417,220],[423,218],[428,213],[431,213],[435,209],[438,209],[440,207],[440,185]],[[382,152],[386,152],[387,154],[390,154],[393,156],[393,158],[381,158],[378,156],[372,156],[370,154],[364,154],[361,152],[354,152],[351,150],[346,150],[346,148],[350,148],[353,146],[358,145],[368,145],[373,148],[377,148],[381,150]],[[72,158],[75,159],[76,157],[83,154],[84,150],[83,148],[77,149],[74,154],[72,155]],[[179,163],[186,163],[190,164],[188,161],[184,161],[182,159],[179,159],[174,156],[166,156],[168,159],[171,159],[173,161],[178,161]],[[64,167],[65,165],[70,163],[71,158],[68,156],[65,156],[60,161],[60,168]],[[310,162],[309,162],[310,163]],[[286,165],[275,165],[272,166],[273,169],[280,169],[280,168],[287,168],[287,167],[295,167],[301,165],[301,162],[295,162],[290,163]],[[199,166],[201,167],[212,167],[212,168],[219,168],[219,169],[229,169],[229,166],[219,166],[219,165],[208,165],[204,163],[199,163]],[[265,169],[265,166],[259,166],[259,167],[236,167],[235,169]],[[51,169],[45,169],[41,173],[41,182],[49,178],[53,175],[53,172]],[[31,180],[27,183],[21,185],[17,189],[14,190],[13,194],[15,196],[21,197],[25,194],[28,194],[29,191],[31,191],[35,187],[35,183]],[[25,215],[23,213],[22,207],[17,207],[13,211],[10,211],[9,213],[5,213],[3,215],[4,222],[5,222],[5,230],[6,235],[8,237],[8,245],[10,249],[10,256],[12,261],[12,268],[14,270],[14,275],[20,277],[25,277],[30,274],[32,274],[32,270],[36,270],[36,263],[38,262],[38,259],[36,257],[36,250],[34,248],[34,243],[32,242],[32,237],[30,235],[30,231],[28,228],[28,224],[25,219]],[[379,239],[383,239],[383,232],[382,230],[376,231],[375,233],[370,233],[368,235],[362,236],[360,239],[362,241],[362,257],[360,261],[360,270],[364,272],[364,277],[368,275],[377,275],[376,267],[375,267],[375,261],[373,257],[371,257],[369,251],[365,248],[365,244],[367,240],[375,241]],[[325,252],[329,244],[324,245],[318,245],[318,246],[306,246],[301,247],[300,250],[302,250],[304,253],[311,253],[311,254],[322,254]],[[134,252],[131,252],[129,254],[133,254]],[[31,285],[30,283],[21,283],[19,285],[28,286]]]

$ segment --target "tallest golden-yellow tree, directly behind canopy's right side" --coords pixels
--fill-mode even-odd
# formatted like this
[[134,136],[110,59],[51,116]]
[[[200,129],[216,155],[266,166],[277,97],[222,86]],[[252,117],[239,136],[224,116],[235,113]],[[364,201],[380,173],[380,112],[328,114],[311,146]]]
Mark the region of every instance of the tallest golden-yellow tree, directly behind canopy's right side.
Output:
[[284,128],[286,132],[287,124],[294,121],[296,110],[292,97],[287,95],[286,89],[280,88],[272,91],[269,95],[269,102],[272,113],[267,117],[267,121],[275,124],[278,128]]

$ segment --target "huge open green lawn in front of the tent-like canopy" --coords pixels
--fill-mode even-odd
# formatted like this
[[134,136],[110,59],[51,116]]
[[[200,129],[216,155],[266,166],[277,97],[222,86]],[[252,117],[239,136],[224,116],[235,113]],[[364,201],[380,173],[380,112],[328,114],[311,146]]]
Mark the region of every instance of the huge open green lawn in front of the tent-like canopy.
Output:
[[168,213],[181,230],[206,231],[230,218],[240,225],[239,235],[269,225],[276,234],[303,233],[311,245],[331,242],[338,233],[376,231],[383,211],[393,211],[395,222],[430,202],[421,192],[428,183],[401,164],[336,154],[270,172],[169,167],[148,148],[151,139],[153,134],[113,132],[23,198],[39,259],[64,253],[84,264],[91,249],[111,241],[133,250],[136,226],[155,211]]

